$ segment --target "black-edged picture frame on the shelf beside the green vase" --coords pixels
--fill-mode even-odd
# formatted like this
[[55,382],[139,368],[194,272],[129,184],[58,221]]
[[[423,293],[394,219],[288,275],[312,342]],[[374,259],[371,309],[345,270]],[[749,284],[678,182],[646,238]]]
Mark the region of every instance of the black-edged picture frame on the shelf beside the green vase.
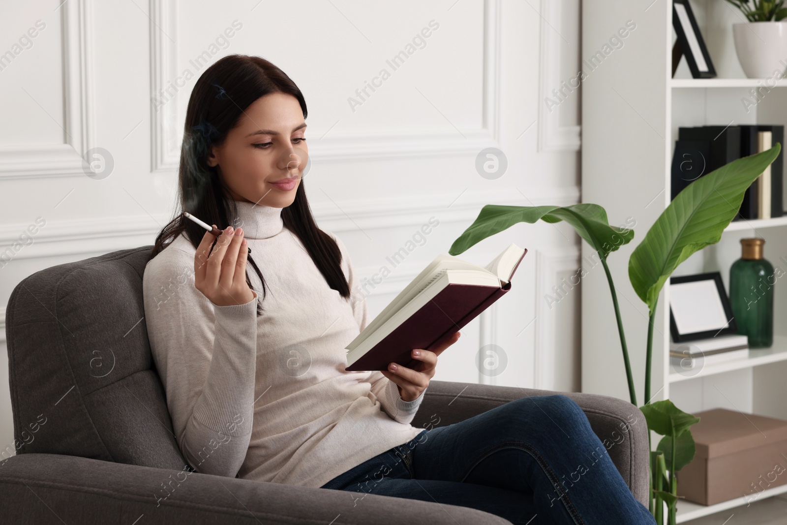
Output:
[[673,342],[737,334],[721,273],[670,278],[670,332]]

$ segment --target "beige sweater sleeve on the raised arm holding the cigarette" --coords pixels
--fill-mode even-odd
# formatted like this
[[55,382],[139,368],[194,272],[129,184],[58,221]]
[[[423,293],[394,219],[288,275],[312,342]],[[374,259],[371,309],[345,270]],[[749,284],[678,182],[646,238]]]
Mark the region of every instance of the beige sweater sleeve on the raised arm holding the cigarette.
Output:
[[251,439],[257,294],[216,306],[194,286],[194,255],[170,247],[142,279],[153,360],[176,441],[198,472],[235,477]]

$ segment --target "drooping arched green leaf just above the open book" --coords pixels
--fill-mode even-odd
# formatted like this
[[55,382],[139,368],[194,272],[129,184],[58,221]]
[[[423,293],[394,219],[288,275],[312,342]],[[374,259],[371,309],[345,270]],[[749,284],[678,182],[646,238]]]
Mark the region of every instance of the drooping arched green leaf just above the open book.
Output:
[[488,204],[481,209],[473,224],[456,238],[448,253],[458,255],[475,243],[507,230],[514,224],[521,222],[533,224],[538,220],[548,223],[565,220],[602,259],[606,259],[610,252],[614,252],[634,238],[634,230],[610,226],[607,212],[597,204],[574,204],[563,207]]

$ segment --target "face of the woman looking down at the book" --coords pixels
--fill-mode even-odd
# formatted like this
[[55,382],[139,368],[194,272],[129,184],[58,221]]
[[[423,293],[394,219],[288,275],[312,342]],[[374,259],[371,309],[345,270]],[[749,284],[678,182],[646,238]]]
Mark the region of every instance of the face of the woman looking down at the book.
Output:
[[290,94],[257,98],[220,146],[209,166],[218,166],[236,201],[285,208],[295,200],[309,160],[301,105]]

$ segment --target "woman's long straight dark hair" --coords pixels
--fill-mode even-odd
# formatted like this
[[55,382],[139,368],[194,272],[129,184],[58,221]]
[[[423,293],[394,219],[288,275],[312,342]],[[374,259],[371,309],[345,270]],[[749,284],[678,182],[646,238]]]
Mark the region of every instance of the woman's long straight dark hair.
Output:
[[[194,91],[191,91],[186,112],[179,166],[180,209],[176,217],[161,228],[150,253],[151,258],[161,253],[183,231],[195,250],[199,246],[205,229],[184,217],[183,212],[191,213],[207,224],[216,224],[219,229],[238,224],[235,200],[231,198],[217,167],[207,164],[208,153],[212,145],[224,142],[227,133],[235,127],[249,105],[257,98],[277,92],[297,98],[306,118],[306,101],[301,90],[281,69],[264,58],[233,54],[205,69],[194,85]],[[343,298],[349,298],[349,285],[340,265],[342,252],[334,239],[315,224],[303,179],[293,203],[282,209],[282,220],[284,227],[301,240],[328,285]],[[264,298],[265,279],[251,254],[248,262],[260,278]],[[246,283],[253,288],[248,273]],[[261,314],[262,305],[258,300],[257,315]]]

